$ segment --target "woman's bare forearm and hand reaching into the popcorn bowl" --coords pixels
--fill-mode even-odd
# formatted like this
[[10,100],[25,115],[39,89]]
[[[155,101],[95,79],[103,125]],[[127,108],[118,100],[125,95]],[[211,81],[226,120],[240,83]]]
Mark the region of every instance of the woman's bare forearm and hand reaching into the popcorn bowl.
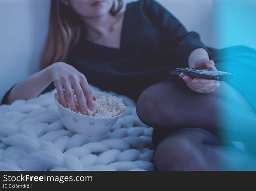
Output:
[[10,104],[16,99],[37,97],[52,81],[56,87],[59,101],[64,107],[67,108],[67,102],[64,98],[63,88],[65,88],[71,110],[78,112],[74,103],[73,88],[81,113],[84,115],[87,113],[84,96],[86,96],[89,110],[92,110],[93,94],[86,77],[71,65],[63,62],[54,63],[16,84],[9,92],[7,103]]

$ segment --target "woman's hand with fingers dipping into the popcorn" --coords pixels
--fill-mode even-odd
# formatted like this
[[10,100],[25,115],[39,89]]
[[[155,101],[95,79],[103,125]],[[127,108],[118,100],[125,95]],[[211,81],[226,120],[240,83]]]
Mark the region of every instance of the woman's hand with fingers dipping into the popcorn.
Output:
[[[77,101],[79,103],[81,114],[86,115],[87,106],[90,111],[93,110],[93,100],[96,100],[96,97],[93,96],[92,90],[84,74],[79,72],[71,65],[58,62],[49,66],[49,75],[54,82],[58,99],[63,107],[68,107],[68,101],[70,104],[70,109],[78,113],[74,102],[74,94],[72,92],[73,88],[75,94],[77,95]],[[67,101],[64,96],[63,88],[65,88]],[[84,97],[86,97],[87,103]]]

